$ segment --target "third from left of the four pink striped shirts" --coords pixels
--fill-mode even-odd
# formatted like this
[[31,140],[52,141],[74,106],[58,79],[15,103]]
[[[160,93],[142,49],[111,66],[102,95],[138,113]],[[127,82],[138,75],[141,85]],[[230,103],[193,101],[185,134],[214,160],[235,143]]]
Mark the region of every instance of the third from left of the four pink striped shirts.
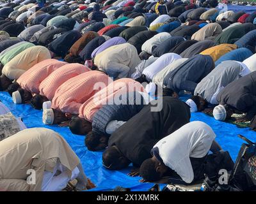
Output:
[[70,78],[56,90],[51,107],[76,114],[80,106],[99,91],[94,89],[97,83],[106,86],[111,82],[111,78],[101,71],[88,71]]

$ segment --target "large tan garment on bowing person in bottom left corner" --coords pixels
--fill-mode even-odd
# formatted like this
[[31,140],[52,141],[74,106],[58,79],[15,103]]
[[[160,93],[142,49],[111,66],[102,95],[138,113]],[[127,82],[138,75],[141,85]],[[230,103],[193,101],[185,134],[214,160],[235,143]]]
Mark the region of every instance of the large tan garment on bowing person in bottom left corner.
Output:
[[[53,171],[57,159],[70,176],[79,158],[56,132],[24,129],[0,142],[0,191],[41,191],[44,171]],[[27,171],[35,170],[36,183],[28,184]]]

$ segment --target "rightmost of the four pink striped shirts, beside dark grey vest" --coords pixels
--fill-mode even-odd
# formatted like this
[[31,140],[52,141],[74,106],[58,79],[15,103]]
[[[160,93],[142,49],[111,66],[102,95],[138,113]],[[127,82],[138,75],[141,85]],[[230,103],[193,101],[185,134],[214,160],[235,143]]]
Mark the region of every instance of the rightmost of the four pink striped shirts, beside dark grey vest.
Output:
[[79,108],[79,117],[92,121],[94,114],[103,106],[107,104],[114,104],[115,98],[118,98],[126,92],[142,91],[145,92],[144,87],[131,78],[120,78],[112,82],[101,91],[97,92],[95,96],[88,99]]

